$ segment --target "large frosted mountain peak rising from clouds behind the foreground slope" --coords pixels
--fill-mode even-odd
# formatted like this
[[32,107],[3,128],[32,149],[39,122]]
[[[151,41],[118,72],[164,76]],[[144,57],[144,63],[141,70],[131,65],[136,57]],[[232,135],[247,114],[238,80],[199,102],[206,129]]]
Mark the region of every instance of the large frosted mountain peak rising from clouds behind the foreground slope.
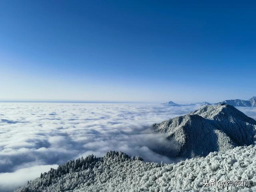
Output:
[[153,128],[170,141],[170,148],[159,151],[168,156],[206,156],[256,141],[256,121],[227,104],[206,105]]

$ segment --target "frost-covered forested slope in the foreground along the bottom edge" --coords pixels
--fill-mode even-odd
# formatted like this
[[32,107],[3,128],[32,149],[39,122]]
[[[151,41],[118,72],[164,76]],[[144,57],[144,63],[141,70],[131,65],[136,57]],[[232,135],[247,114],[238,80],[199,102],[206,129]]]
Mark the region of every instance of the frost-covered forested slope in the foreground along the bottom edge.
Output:
[[78,158],[50,170],[16,192],[138,192],[226,191],[204,186],[203,180],[250,180],[249,187],[228,191],[256,191],[256,146],[211,152],[178,164],[144,162],[122,152],[107,152],[103,158]]

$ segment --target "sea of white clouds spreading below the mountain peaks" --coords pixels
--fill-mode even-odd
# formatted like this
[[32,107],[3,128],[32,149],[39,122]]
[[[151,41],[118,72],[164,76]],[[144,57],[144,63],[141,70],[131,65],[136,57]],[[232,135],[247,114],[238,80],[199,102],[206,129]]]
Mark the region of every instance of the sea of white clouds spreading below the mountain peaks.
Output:
[[[166,140],[153,133],[150,125],[199,107],[0,103],[0,191],[12,191],[68,160],[88,154],[100,157],[109,150],[151,162],[174,162],[154,152]],[[256,118],[256,108],[238,109]]]

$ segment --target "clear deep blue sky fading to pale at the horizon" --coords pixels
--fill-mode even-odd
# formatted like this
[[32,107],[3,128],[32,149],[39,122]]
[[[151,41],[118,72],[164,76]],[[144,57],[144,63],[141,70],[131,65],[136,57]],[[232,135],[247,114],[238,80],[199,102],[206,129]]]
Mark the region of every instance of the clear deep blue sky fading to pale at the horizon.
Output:
[[255,1],[0,1],[0,100],[256,95]]

